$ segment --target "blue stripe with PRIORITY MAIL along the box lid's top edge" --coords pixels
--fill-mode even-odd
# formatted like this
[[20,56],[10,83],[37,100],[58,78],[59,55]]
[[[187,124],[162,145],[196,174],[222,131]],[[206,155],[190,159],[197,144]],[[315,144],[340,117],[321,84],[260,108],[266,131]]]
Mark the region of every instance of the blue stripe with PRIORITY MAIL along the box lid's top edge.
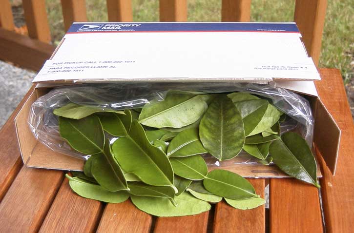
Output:
[[67,33],[89,32],[293,32],[294,23],[74,23]]

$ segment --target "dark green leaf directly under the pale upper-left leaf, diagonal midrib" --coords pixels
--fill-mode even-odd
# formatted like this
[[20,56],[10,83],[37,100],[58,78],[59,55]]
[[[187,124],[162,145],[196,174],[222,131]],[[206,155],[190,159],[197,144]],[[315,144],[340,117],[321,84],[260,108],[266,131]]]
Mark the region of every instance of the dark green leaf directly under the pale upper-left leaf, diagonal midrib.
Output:
[[80,120],[59,117],[59,131],[78,152],[86,155],[103,152],[104,132],[100,119],[95,115]]

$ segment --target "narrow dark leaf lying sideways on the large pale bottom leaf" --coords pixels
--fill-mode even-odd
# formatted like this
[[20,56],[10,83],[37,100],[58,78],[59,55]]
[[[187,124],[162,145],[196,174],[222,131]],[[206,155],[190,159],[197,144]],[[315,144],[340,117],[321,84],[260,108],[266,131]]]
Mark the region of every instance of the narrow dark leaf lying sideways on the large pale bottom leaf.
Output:
[[152,186],[142,182],[131,182],[129,183],[129,189],[129,193],[132,195],[166,197],[169,198],[173,204],[176,204],[174,201],[174,190],[171,187]]

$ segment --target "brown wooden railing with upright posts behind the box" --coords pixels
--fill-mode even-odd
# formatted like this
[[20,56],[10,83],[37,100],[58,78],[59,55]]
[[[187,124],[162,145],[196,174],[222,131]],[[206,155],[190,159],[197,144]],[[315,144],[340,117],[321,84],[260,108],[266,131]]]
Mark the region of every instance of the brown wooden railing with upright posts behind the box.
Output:
[[[107,0],[106,2],[109,21],[133,20],[131,0]],[[61,4],[65,30],[74,21],[87,21],[85,0],[61,0]],[[16,53],[26,50],[35,55],[38,53],[36,46],[41,44],[38,43],[39,41],[50,43],[50,22],[48,23],[47,19],[45,0],[23,0],[22,5],[29,38],[19,41],[19,37],[4,31],[13,32],[15,26],[10,1],[0,0],[0,59],[36,70],[41,68],[45,59],[23,62],[22,55]],[[250,6],[251,0],[222,0],[221,19],[222,21],[250,21]],[[308,54],[316,65],[320,55],[326,7],[327,0],[295,0],[294,21],[303,36]],[[187,0],[160,0],[160,21],[187,21]],[[39,41],[33,42],[33,39]],[[18,48],[14,48],[15,45]],[[41,44],[39,46],[41,53],[43,48],[48,49],[46,53],[49,58],[53,47]]]

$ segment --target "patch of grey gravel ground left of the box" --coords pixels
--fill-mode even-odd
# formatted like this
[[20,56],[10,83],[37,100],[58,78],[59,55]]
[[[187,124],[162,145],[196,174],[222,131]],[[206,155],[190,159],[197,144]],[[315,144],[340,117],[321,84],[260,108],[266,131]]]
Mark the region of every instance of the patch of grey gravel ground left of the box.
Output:
[[31,87],[36,73],[0,61],[0,128]]

